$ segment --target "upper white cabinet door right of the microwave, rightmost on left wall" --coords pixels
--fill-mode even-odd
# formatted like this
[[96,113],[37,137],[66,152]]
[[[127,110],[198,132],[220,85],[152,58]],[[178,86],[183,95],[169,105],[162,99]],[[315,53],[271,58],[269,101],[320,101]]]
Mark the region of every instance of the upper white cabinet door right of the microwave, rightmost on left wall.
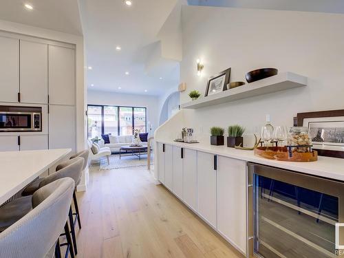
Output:
[[49,103],[74,105],[75,51],[67,47],[48,46],[49,56]]

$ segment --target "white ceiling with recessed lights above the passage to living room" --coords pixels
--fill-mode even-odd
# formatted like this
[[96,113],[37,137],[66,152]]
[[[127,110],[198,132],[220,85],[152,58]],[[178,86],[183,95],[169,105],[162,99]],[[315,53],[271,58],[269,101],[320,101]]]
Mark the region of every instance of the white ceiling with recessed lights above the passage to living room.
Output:
[[[129,7],[123,0],[80,0],[87,66],[92,67],[87,70],[87,86],[100,91],[160,95],[178,85],[178,66],[151,71],[151,56],[161,52],[158,32],[176,2],[133,0]],[[116,45],[122,50],[116,51]]]

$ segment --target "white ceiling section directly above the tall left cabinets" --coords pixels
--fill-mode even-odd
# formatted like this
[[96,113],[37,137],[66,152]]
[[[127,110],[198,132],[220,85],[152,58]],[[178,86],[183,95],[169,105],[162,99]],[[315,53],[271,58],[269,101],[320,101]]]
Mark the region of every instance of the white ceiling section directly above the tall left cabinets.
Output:
[[[34,10],[25,9],[25,3],[30,3]],[[0,0],[0,19],[69,34],[83,34],[76,0]]]

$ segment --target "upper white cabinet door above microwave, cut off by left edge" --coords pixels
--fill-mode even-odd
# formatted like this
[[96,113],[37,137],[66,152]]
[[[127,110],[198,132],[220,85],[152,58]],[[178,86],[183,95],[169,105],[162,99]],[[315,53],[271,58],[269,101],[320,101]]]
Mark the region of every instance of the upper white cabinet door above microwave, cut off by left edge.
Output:
[[0,102],[18,102],[19,39],[0,36]]

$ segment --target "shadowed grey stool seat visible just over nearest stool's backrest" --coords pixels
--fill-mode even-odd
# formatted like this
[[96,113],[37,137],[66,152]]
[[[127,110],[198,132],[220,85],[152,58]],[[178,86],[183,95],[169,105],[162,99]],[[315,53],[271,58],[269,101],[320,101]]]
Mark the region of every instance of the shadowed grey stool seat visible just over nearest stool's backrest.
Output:
[[32,210],[32,195],[21,197],[0,207],[0,232]]

